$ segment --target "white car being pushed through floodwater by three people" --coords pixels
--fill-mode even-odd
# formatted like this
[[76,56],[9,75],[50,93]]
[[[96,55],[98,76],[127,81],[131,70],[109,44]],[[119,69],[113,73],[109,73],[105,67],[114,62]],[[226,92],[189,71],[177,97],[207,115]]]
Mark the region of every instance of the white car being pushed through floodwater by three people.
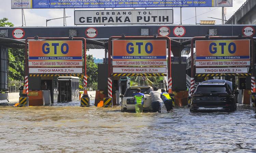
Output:
[[153,91],[153,88],[151,86],[132,86],[126,89],[125,95],[120,95],[120,98],[122,98],[121,112],[135,112],[133,95],[136,93],[137,88],[140,88],[141,93],[146,97],[143,103],[143,111],[152,111],[150,91]]

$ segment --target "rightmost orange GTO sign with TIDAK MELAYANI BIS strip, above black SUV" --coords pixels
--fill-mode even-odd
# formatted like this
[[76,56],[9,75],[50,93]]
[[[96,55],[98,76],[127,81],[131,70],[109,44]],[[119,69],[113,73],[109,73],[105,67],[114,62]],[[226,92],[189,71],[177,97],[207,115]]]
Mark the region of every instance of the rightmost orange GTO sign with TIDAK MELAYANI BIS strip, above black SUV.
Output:
[[250,66],[250,40],[197,40],[196,67]]

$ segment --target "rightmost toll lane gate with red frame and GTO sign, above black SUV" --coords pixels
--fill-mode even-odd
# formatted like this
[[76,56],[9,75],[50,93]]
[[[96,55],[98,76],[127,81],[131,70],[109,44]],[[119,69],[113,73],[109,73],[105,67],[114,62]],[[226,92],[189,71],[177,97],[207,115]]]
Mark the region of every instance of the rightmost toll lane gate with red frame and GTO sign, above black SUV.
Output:
[[232,88],[239,91],[238,103],[249,105],[255,82],[254,58],[251,36],[194,37],[191,39],[191,94],[196,82],[224,79],[231,81]]

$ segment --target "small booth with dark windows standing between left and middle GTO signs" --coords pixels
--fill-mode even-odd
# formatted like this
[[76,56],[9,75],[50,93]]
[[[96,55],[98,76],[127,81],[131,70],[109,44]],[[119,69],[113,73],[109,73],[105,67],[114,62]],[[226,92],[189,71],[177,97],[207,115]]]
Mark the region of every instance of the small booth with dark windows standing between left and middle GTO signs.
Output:
[[79,78],[58,77],[58,101],[70,102],[79,100]]

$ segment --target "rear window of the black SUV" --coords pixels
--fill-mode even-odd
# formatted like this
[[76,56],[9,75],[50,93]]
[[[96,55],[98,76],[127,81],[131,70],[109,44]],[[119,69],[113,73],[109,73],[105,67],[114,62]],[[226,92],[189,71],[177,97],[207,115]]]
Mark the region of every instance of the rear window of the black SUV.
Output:
[[219,85],[199,85],[196,92],[227,92],[227,89]]

